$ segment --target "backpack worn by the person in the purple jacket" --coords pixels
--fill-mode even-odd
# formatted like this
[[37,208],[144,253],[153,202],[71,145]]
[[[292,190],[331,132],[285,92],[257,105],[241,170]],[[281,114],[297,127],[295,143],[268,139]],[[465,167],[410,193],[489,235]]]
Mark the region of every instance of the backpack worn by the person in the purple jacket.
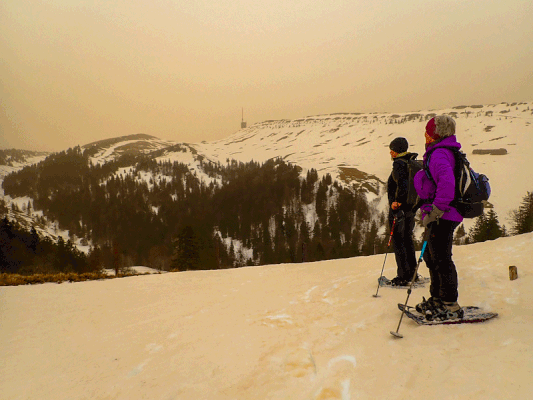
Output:
[[[457,209],[463,218],[479,217],[483,214],[485,208],[484,202],[490,197],[489,178],[484,174],[475,172],[470,167],[470,162],[466,158],[466,154],[457,148],[440,146],[434,150],[442,148],[451,150],[455,157],[455,198],[450,203],[450,206]],[[435,183],[428,167],[432,152],[426,157],[424,171],[427,177]]]

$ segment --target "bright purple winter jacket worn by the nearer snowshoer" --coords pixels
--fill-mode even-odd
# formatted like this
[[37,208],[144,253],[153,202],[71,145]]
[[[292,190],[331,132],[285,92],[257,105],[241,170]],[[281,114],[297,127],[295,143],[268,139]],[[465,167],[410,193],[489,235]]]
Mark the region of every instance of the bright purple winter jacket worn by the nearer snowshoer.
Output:
[[[461,214],[450,206],[450,202],[455,197],[455,175],[453,173],[455,157],[451,150],[439,148],[443,146],[455,147],[457,149],[461,148],[461,144],[457,142],[455,135],[444,138],[442,141],[431,146],[429,148],[429,150],[432,150],[429,159],[429,172],[437,186],[427,177],[424,170],[420,170],[415,175],[415,189],[422,200],[434,198],[432,204],[439,210],[444,211],[444,215],[441,217],[442,219],[462,222],[463,217]],[[428,150],[424,154],[424,164],[426,163],[427,154]],[[424,219],[431,209],[431,204],[424,204],[420,207],[422,212],[421,218]]]

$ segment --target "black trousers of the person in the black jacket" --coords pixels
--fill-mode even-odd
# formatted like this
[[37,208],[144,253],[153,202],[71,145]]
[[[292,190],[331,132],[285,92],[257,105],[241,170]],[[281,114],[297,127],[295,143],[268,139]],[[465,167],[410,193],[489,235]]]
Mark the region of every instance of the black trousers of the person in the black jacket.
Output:
[[[392,227],[394,213],[389,213],[389,227]],[[396,221],[392,234],[392,247],[396,257],[397,276],[406,281],[413,279],[416,270],[415,245],[413,242],[413,229],[415,216],[405,213],[405,217]]]

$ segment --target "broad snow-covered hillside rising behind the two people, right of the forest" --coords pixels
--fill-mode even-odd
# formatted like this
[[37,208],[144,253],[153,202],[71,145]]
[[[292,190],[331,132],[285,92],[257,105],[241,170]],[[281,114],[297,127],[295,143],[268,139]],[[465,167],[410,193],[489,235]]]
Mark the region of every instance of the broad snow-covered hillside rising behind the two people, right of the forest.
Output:
[[[216,142],[195,144],[199,154],[224,163],[227,158],[264,161],[282,157],[304,169],[357,187],[382,188],[391,171],[388,145],[407,138],[410,151],[424,153],[427,120],[450,114],[457,123],[457,138],[471,165],[486,174],[492,186],[490,202],[502,222],[516,209],[531,180],[533,154],[533,102],[458,106],[400,114],[331,114],[296,120],[266,121]],[[505,155],[472,154],[500,149]]]

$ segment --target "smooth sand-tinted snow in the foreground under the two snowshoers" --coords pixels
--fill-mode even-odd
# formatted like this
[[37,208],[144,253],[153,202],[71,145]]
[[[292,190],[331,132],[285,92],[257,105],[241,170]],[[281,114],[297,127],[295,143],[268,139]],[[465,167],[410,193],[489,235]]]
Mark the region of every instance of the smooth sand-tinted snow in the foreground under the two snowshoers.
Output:
[[[459,302],[499,316],[404,319],[403,339],[389,332],[406,292],[372,296],[383,255],[2,287],[0,397],[527,399],[532,257],[533,233],[454,248]],[[414,289],[409,304],[427,295]]]

